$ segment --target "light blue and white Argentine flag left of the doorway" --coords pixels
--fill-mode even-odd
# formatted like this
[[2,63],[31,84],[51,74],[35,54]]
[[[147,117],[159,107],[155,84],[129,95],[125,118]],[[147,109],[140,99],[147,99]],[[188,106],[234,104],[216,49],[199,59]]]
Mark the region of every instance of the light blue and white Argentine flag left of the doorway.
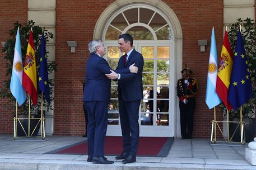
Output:
[[22,73],[23,65],[21,55],[20,29],[18,28],[10,84],[11,93],[16,98],[18,106],[22,105],[26,101],[26,92],[25,89],[22,87]]

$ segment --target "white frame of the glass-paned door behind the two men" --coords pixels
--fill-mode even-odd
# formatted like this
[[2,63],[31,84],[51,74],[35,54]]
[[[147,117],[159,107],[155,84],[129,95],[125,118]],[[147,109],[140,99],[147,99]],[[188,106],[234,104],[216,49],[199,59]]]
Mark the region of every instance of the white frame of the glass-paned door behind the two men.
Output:
[[[117,46],[117,41],[105,41],[104,42],[106,48],[108,46]],[[169,112],[153,112],[153,117],[156,117],[156,114],[168,114],[169,115],[169,125],[168,126],[159,126],[156,125],[156,122],[153,121],[153,125],[141,125],[141,109],[139,109],[139,130],[140,130],[140,136],[174,136],[175,135],[175,100],[176,100],[176,92],[175,92],[175,86],[176,86],[176,81],[175,81],[175,75],[173,72],[173,69],[175,68],[174,65],[174,41],[173,40],[156,40],[156,41],[134,41],[133,42],[134,48],[141,53],[141,47],[142,46],[154,46],[155,48],[155,53],[154,53],[154,62],[156,65],[157,62],[157,46],[170,46],[170,57],[169,57]],[[122,55],[122,54],[120,54]],[[106,58],[107,56],[105,56]],[[115,68],[113,68],[115,69]],[[154,67],[154,71],[156,73],[156,67]],[[154,83],[153,86],[154,91],[156,92],[156,87],[157,87],[157,74],[154,74]],[[111,98],[114,99],[114,98]],[[154,102],[156,105],[156,96],[154,97]],[[146,112],[143,112],[143,114]],[[118,125],[108,125],[108,130],[106,135],[109,136],[121,136],[121,126],[120,126],[120,120]]]

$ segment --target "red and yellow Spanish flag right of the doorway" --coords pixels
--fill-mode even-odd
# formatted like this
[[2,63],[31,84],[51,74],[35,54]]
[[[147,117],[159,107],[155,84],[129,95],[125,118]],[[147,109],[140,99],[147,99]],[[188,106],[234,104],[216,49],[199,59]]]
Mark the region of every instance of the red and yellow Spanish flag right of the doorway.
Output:
[[222,102],[224,102],[224,105],[228,110],[232,110],[232,106],[227,100],[227,92],[229,91],[232,65],[233,53],[229,43],[229,37],[227,36],[227,31],[225,31],[217,74],[216,93],[218,94],[218,97],[221,98]]

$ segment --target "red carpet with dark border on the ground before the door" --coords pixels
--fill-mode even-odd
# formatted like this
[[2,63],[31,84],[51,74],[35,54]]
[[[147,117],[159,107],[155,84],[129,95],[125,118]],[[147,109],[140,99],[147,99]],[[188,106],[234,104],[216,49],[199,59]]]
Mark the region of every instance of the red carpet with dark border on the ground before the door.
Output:
[[[139,137],[137,156],[166,157],[173,144],[173,138]],[[105,154],[119,155],[123,151],[123,141],[120,136],[106,136]],[[53,152],[54,154],[87,154],[87,141],[64,147]]]

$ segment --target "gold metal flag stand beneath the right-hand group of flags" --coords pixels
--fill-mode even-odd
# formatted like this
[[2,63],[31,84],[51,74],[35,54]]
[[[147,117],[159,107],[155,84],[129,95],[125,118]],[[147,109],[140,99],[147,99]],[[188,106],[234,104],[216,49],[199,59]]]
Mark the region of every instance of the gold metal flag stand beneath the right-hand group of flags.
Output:
[[[227,123],[227,136],[224,135],[223,131],[221,130],[219,123]],[[230,133],[229,133],[229,123],[234,123],[237,124],[236,129],[233,134],[231,134],[230,138]],[[212,120],[212,131],[211,131],[211,145],[226,145],[226,146],[244,146],[245,145],[245,132],[244,132],[244,121],[216,121]],[[221,132],[222,134],[222,139],[217,140],[217,134],[216,134],[216,126],[217,129]],[[240,141],[232,141],[232,138],[236,131],[238,130],[240,126]],[[214,135],[214,136],[213,136]]]

